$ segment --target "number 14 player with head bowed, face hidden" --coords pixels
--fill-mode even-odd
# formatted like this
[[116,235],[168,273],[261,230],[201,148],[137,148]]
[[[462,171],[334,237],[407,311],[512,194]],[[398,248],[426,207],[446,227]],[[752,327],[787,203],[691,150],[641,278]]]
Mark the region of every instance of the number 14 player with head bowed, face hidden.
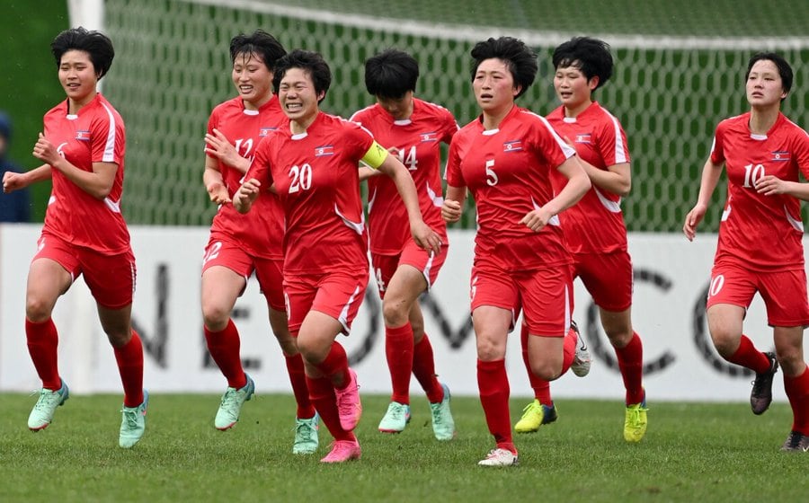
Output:
[[418,246],[408,231],[407,211],[396,185],[376,170],[368,177],[368,227],[371,266],[385,318],[385,353],[393,384],[390,405],[379,431],[399,433],[410,421],[410,375],[422,384],[432,411],[432,431],[439,440],[455,436],[449,388],[440,384],[418,297],[430,289],[447,258],[447,225],[441,218],[440,144],[449,145],[458,123],[449,110],[413,96],[419,78],[416,60],[387,49],[365,62],[365,86],[377,103],[351,120],[369,129],[377,142],[396,154],[413,177],[424,221],[441,236],[439,253]]

